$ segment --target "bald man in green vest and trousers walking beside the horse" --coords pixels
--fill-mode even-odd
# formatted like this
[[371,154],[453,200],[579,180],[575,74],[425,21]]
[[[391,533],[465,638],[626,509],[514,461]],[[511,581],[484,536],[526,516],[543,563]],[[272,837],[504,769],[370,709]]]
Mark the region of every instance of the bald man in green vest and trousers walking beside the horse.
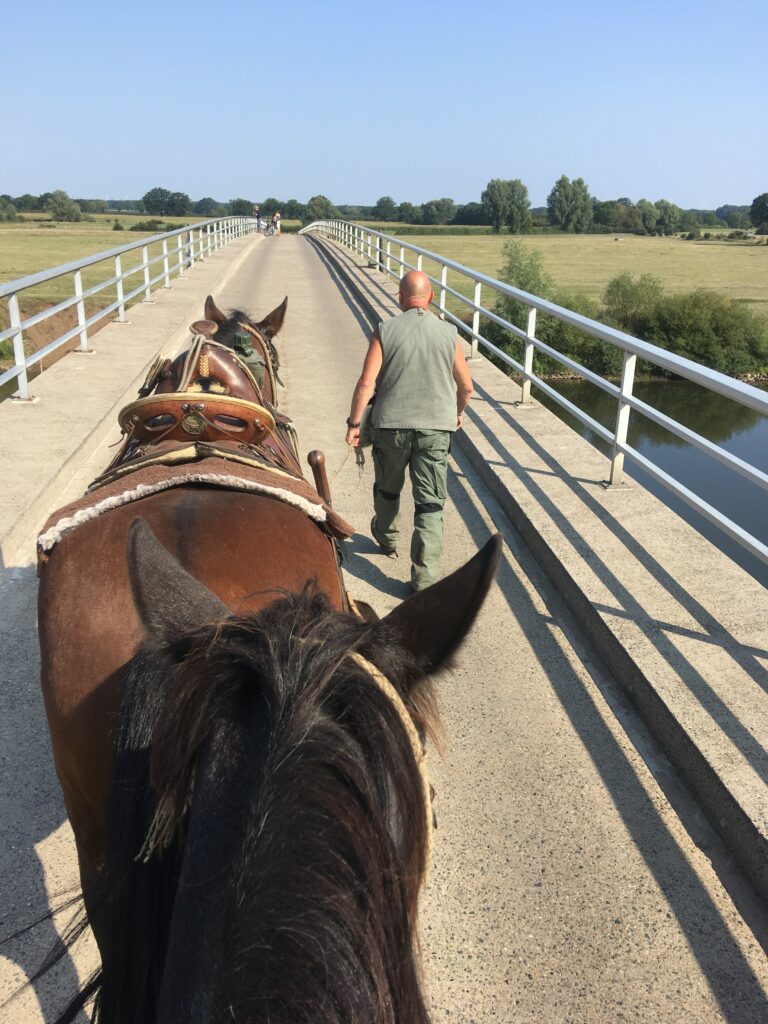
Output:
[[346,434],[347,444],[359,444],[362,413],[375,389],[371,532],[385,554],[396,554],[408,469],[416,504],[411,540],[415,591],[438,578],[451,439],[461,430],[472,394],[456,328],[429,311],[433,297],[429,278],[421,270],[401,279],[397,299],[402,312],[380,324],[371,338]]

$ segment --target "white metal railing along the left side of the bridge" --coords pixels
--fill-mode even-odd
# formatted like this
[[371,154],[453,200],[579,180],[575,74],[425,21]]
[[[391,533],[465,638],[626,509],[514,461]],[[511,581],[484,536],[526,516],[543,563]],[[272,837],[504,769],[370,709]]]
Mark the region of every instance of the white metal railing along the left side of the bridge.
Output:
[[[153,234],[151,238],[140,239],[138,242],[120,246],[118,249],[109,249],[106,252],[96,253],[94,256],[86,256],[84,259],[75,260],[73,263],[62,263],[60,266],[51,267],[49,270],[41,270],[38,273],[31,273],[26,278],[18,278],[16,281],[9,281],[5,285],[0,285],[0,300],[5,299],[8,309],[9,327],[0,331],[0,342],[8,338],[13,342],[13,366],[0,374],[0,388],[9,381],[15,380],[17,385],[17,396],[29,398],[29,375],[31,367],[42,360],[55,349],[66,345],[68,341],[79,336],[79,351],[88,351],[88,329],[97,321],[117,310],[118,323],[126,323],[126,305],[131,299],[136,298],[143,292],[143,301],[150,302],[152,289],[159,282],[163,282],[164,288],[171,287],[171,276],[183,276],[184,269],[194,267],[196,260],[204,260],[221,246],[226,245],[233,239],[239,239],[244,234],[249,234],[256,230],[256,220],[253,217],[216,217],[212,220],[204,220],[197,224],[178,227],[173,231],[166,231],[162,234]],[[150,258],[150,247],[162,244],[162,250]],[[127,270],[123,270],[122,260],[126,253],[141,250],[141,262]],[[86,267],[101,263],[106,260],[114,261],[115,272],[104,281],[100,281],[90,288],[83,288],[83,270]],[[162,265],[161,265],[162,264]],[[160,266],[159,272],[152,274],[152,268]],[[111,267],[112,268],[112,267]],[[18,296],[31,288],[43,285],[46,282],[54,281],[56,278],[72,275],[73,293],[61,302],[57,302],[40,312],[23,318],[18,304]],[[126,292],[125,283],[128,279],[138,275],[138,283],[131,283],[130,290]],[[86,300],[102,292],[104,289],[115,287],[117,298],[108,303],[102,308],[97,309],[90,315],[86,313]],[[65,309],[74,307],[77,324],[63,334],[60,334],[53,341],[48,342],[42,348],[27,355],[24,350],[24,335],[36,324],[60,313]]]

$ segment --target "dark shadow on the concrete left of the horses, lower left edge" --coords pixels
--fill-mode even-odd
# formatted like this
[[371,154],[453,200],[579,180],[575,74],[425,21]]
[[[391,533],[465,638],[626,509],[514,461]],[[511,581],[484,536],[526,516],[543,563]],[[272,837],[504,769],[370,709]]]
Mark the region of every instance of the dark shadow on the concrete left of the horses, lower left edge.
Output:
[[[49,908],[46,878],[37,848],[67,820],[48,738],[40,691],[37,631],[37,578],[34,566],[0,568],[0,603],[3,608],[2,658],[0,658],[0,940],[45,914]],[[66,843],[66,838],[61,842]],[[46,862],[50,857],[46,851]],[[55,871],[51,888],[66,891],[75,881],[59,882]],[[55,902],[55,900],[54,900]],[[0,953],[17,965],[26,977],[40,967],[59,944],[50,920],[0,946]],[[79,988],[77,970],[66,954],[58,967],[34,986],[43,1020],[53,1021]],[[0,1017],[14,1017],[14,1005],[3,1007],[14,987],[0,978]],[[4,1016],[8,1015],[8,1016]],[[85,1022],[80,1015],[77,1021]]]

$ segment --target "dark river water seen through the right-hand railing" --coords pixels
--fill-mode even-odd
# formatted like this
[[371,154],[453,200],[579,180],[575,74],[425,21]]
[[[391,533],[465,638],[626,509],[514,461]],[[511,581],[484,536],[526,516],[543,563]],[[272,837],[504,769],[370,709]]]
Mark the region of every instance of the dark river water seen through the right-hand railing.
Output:
[[[585,381],[548,383],[598,423],[613,430],[616,402],[610,395]],[[768,473],[768,417],[687,381],[637,382],[634,392],[647,404]],[[594,431],[560,409],[538,388],[534,388],[534,394],[543,406],[601,452],[609,452],[609,446]],[[768,493],[634,410],[630,417],[628,441],[719,512],[759,541],[768,544]],[[717,526],[675,498],[629,460],[625,460],[625,470],[768,587],[768,565],[749,554],[739,544],[726,537]]]

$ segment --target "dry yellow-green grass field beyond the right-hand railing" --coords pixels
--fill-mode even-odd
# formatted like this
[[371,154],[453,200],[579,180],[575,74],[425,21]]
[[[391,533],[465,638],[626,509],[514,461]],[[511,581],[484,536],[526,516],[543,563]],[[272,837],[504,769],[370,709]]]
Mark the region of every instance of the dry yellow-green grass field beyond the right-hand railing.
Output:
[[[504,263],[502,250],[509,238],[435,233],[403,242],[496,278]],[[765,245],[685,242],[679,238],[635,234],[529,234],[521,241],[541,253],[544,268],[558,290],[582,292],[599,299],[610,279],[618,273],[652,273],[670,292],[699,288],[722,292],[749,303],[756,312],[768,314],[768,246]],[[399,257],[394,247],[392,253]],[[406,260],[415,263],[408,249]],[[436,263],[425,259],[424,269],[439,278]],[[461,274],[451,271],[447,284],[463,295],[472,295],[473,286]],[[461,305],[453,300],[450,308],[458,310]]]

